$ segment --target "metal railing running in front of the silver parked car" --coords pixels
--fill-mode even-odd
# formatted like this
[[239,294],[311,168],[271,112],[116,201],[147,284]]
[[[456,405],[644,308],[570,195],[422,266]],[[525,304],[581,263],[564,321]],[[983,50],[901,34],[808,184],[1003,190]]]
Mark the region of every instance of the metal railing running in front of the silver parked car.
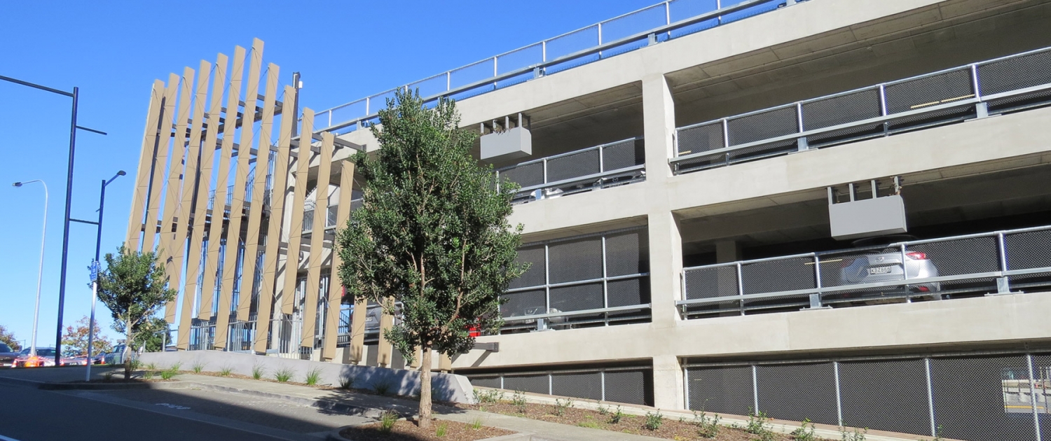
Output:
[[[934,282],[943,282],[943,281],[969,280],[969,279],[976,279],[976,278],[1000,278],[1000,277],[1010,277],[1010,276],[1018,276],[1018,275],[1049,273],[1049,272],[1051,272],[1051,267],[1027,268],[1027,269],[1019,269],[1019,270],[1011,270],[1010,267],[1007,264],[1006,252],[1005,252],[1006,251],[1006,248],[1005,248],[1005,236],[1006,235],[1027,233],[1027,232],[1034,232],[1034,231],[1047,231],[1047,230],[1051,230],[1051,226],[1019,228],[1019,229],[1014,229],[1014,230],[1000,230],[1000,231],[986,232],[986,233],[975,233],[975,234],[963,234],[963,235],[949,236],[949,237],[939,237],[939,238],[933,238],[933,239],[905,240],[905,242],[898,242],[898,243],[893,243],[893,244],[888,244],[888,245],[885,245],[885,246],[874,246],[874,247],[865,247],[865,248],[857,248],[857,249],[846,249],[846,250],[834,250],[834,251],[822,251],[822,252],[813,252],[813,253],[792,254],[792,255],[787,255],[787,256],[766,257],[766,258],[750,259],[750,260],[740,260],[740,261],[726,262],[726,264],[703,265],[703,266],[697,266],[697,267],[683,268],[682,269],[682,277],[683,277],[683,279],[685,279],[686,274],[688,272],[691,272],[691,271],[697,271],[697,270],[705,270],[705,269],[713,269],[713,268],[724,268],[724,267],[738,267],[738,268],[740,268],[740,267],[744,267],[744,266],[753,265],[753,264],[758,264],[758,262],[767,262],[767,261],[777,261],[777,260],[789,260],[789,259],[805,258],[805,257],[816,258],[815,261],[820,262],[822,256],[834,256],[834,255],[842,255],[842,254],[845,254],[845,253],[854,254],[854,253],[864,252],[866,250],[873,250],[873,249],[901,249],[902,253],[904,254],[905,250],[908,247],[911,247],[911,246],[925,245],[925,244],[936,244],[936,243],[945,243],[945,242],[962,240],[962,239],[971,239],[971,238],[980,238],[980,237],[995,238],[997,240],[997,253],[998,254],[1005,254],[1003,256],[1000,256],[1001,258],[998,260],[1000,260],[1000,266],[1002,268],[998,271],[987,271],[987,272],[981,272],[981,273],[969,273],[969,274],[959,274],[959,275],[949,275],[949,276],[936,276],[936,277],[912,277],[912,278],[907,277],[907,274],[903,273],[903,278],[898,279],[898,280],[886,280],[886,281],[868,282],[868,284],[841,285],[841,286],[834,286],[834,287],[825,287],[825,286],[822,286],[819,282],[819,284],[816,284],[817,285],[816,288],[807,288],[807,289],[802,289],[802,290],[776,291],[776,292],[756,293],[756,294],[744,294],[742,291],[740,291],[740,289],[742,287],[742,284],[744,282],[744,278],[743,278],[742,274],[740,273],[740,271],[738,271],[738,273],[735,274],[735,276],[734,276],[735,277],[735,282],[738,286],[738,294],[736,294],[736,295],[728,295],[728,296],[719,296],[719,297],[708,297],[708,298],[695,298],[695,299],[677,300],[676,301],[676,306],[681,307],[681,306],[703,304],[703,303],[718,303],[718,302],[724,302],[724,301],[729,301],[729,300],[754,300],[754,299],[765,299],[765,298],[791,297],[791,296],[800,296],[800,295],[807,295],[807,294],[827,294],[827,293],[836,293],[836,292],[841,292],[841,291],[856,291],[856,290],[864,290],[864,289],[871,289],[871,288],[901,287],[901,286],[908,286],[908,285],[923,285],[923,284],[934,284]],[[813,265],[813,264],[807,262],[806,265]],[[813,265],[813,267],[815,267],[813,268],[815,274],[816,275],[820,274],[821,270],[819,268],[819,266],[818,265]],[[685,282],[684,282],[684,287],[688,287],[688,285],[685,285]],[[684,291],[684,293],[685,293],[685,291]]]

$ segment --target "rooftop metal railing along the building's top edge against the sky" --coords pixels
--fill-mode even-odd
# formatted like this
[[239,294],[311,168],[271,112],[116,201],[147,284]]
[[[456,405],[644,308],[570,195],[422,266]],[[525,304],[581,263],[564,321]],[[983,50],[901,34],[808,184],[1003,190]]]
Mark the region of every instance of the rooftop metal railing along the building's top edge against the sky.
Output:
[[[487,58],[485,60],[476,61],[474,63],[470,63],[470,64],[467,64],[467,65],[463,65],[463,66],[460,66],[460,67],[449,69],[449,70],[446,70],[442,74],[434,75],[434,76],[428,77],[428,78],[419,80],[419,81],[415,81],[413,83],[410,83],[410,84],[407,84],[407,85],[404,85],[404,86],[399,86],[399,87],[395,87],[395,88],[392,88],[392,89],[388,89],[388,90],[385,90],[383,92],[375,93],[375,94],[372,94],[372,96],[369,96],[369,97],[366,97],[366,98],[363,98],[363,99],[359,99],[359,100],[355,100],[355,101],[352,101],[352,102],[349,102],[349,103],[346,103],[346,104],[341,104],[341,105],[335,106],[335,107],[331,107],[331,108],[328,108],[328,109],[325,109],[325,110],[321,110],[321,111],[314,113],[315,121],[318,121],[318,122],[322,121],[323,120],[323,117],[322,117],[323,113],[328,113],[329,121],[328,121],[328,126],[326,128],[323,128],[321,130],[316,130],[316,132],[339,130],[342,128],[346,128],[346,127],[350,127],[350,126],[353,126],[353,125],[357,125],[357,124],[359,124],[363,121],[374,119],[378,113],[376,111],[374,111],[372,109],[372,107],[371,107],[371,101],[373,99],[387,96],[387,94],[392,93],[394,91],[397,91],[399,89],[408,89],[408,88],[412,87],[413,85],[418,85],[418,84],[425,83],[427,81],[439,79],[441,77],[446,77],[446,79],[447,79],[446,80],[446,90],[442,91],[442,92],[436,93],[434,96],[431,96],[431,97],[426,97],[425,98],[425,102],[435,101],[435,100],[437,100],[439,98],[449,97],[449,96],[453,96],[453,94],[456,94],[456,93],[461,93],[461,92],[465,92],[465,91],[477,89],[479,87],[493,86],[493,85],[495,85],[496,83],[498,83],[500,81],[512,79],[512,78],[519,77],[519,76],[523,76],[523,75],[527,75],[527,74],[530,74],[530,72],[534,72],[534,75],[540,76],[540,75],[542,75],[542,70],[545,67],[550,67],[550,66],[553,66],[553,65],[565,63],[568,61],[577,60],[577,59],[580,59],[580,58],[583,58],[583,57],[588,57],[588,56],[593,56],[593,55],[596,55],[596,54],[599,55],[599,56],[601,56],[602,51],[605,51],[605,50],[609,50],[611,48],[615,48],[615,47],[618,47],[618,46],[622,46],[622,45],[625,45],[625,44],[628,44],[628,43],[634,43],[634,42],[637,42],[637,41],[640,41],[640,40],[644,40],[644,39],[651,39],[651,41],[656,42],[656,36],[657,35],[665,34],[671,39],[671,38],[673,38],[673,37],[671,37],[671,33],[673,30],[678,30],[678,29],[681,29],[683,27],[692,26],[694,24],[702,23],[702,22],[705,22],[705,21],[708,21],[708,20],[717,19],[718,23],[716,25],[718,26],[718,25],[724,24],[724,22],[722,20],[723,16],[726,16],[726,15],[729,15],[729,14],[733,14],[733,13],[737,13],[737,12],[740,12],[740,10],[744,10],[744,9],[747,9],[749,7],[753,7],[753,6],[758,6],[758,5],[767,4],[767,3],[779,3],[778,7],[781,7],[781,6],[792,5],[792,4],[797,3],[797,0],[744,0],[744,1],[741,1],[741,2],[739,2],[737,4],[734,4],[734,5],[730,5],[730,6],[725,6],[725,7],[721,6],[721,3],[717,1],[717,6],[716,6],[717,9],[710,10],[710,12],[707,12],[707,13],[704,13],[704,14],[700,14],[700,15],[694,16],[692,18],[680,20],[680,21],[677,21],[677,22],[673,23],[672,20],[671,20],[669,10],[671,10],[671,5],[674,2],[675,2],[675,0],[667,0],[667,1],[664,1],[664,2],[661,2],[661,3],[657,3],[657,4],[654,4],[654,5],[651,5],[651,6],[646,6],[646,7],[643,7],[643,8],[640,8],[640,9],[637,9],[637,10],[634,10],[634,12],[631,12],[631,13],[627,13],[627,14],[624,14],[624,15],[620,15],[620,16],[614,17],[612,19],[609,19],[609,20],[605,20],[605,21],[602,21],[602,22],[599,22],[599,23],[596,23],[596,24],[593,24],[593,25],[590,25],[590,26],[584,26],[584,27],[581,27],[581,28],[578,28],[578,29],[574,29],[574,30],[565,33],[565,34],[561,34],[561,35],[556,36],[556,37],[552,37],[552,38],[547,39],[547,40],[542,40],[542,41],[540,41],[538,43],[533,43],[533,44],[530,44],[530,45],[526,45],[526,46],[522,46],[522,47],[519,47],[519,48],[516,48],[516,49],[513,49],[513,50],[506,51],[503,54],[499,54],[499,55],[496,55],[496,56],[493,56],[493,57],[489,57],[489,58]],[[651,29],[647,29],[647,30],[635,33],[635,34],[628,35],[627,37],[623,37],[623,38],[620,38],[620,39],[617,39],[617,40],[614,40],[614,41],[610,41],[610,42],[602,42],[601,41],[601,38],[602,38],[601,37],[601,28],[602,28],[602,24],[603,23],[610,23],[610,22],[613,22],[615,20],[621,19],[623,17],[627,17],[627,16],[631,16],[631,15],[634,15],[634,14],[645,12],[645,10],[652,9],[654,7],[659,7],[660,5],[664,5],[665,12],[666,12],[666,14],[665,14],[665,24],[664,25],[661,25],[661,26],[658,26],[658,27],[654,27],[654,28],[651,28]],[[564,56],[557,57],[557,58],[554,58],[554,59],[551,59],[551,60],[548,59],[548,57],[547,57],[547,45],[548,45],[548,42],[555,41],[555,40],[557,40],[559,38],[571,36],[571,35],[574,35],[576,33],[580,33],[582,30],[588,30],[588,29],[595,28],[595,27],[597,27],[597,29],[598,29],[598,44],[597,45],[589,47],[589,48],[585,48],[585,49],[582,49],[582,50],[578,50],[578,51],[575,51],[575,52],[566,54]],[[654,36],[654,37],[652,38],[651,36]],[[513,69],[513,70],[510,70],[510,71],[507,71],[507,72],[503,72],[503,74],[499,74],[499,64],[498,63],[499,63],[499,59],[501,57],[504,57],[504,56],[508,56],[508,55],[511,55],[511,54],[515,54],[515,52],[518,52],[520,50],[534,48],[537,45],[540,45],[540,48],[541,48],[541,51],[542,51],[542,58],[541,58],[541,62],[540,63],[530,64],[530,65],[528,65],[526,67],[520,67],[520,68]],[[481,63],[488,63],[488,62],[490,62],[490,60],[492,60],[492,62],[493,62],[493,76],[492,77],[489,77],[489,78],[486,78],[486,79],[482,79],[482,80],[479,80],[479,81],[476,81],[476,82],[473,82],[473,83],[469,83],[469,84],[466,84],[466,85],[462,85],[462,86],[459,86],[459,87],[455,87],[455,88],[452,87],[452,74],[454,71],[461,70],[461,69],[465,69],[465,68],[468,68],[468,67],[474,67],[474,66],[477,66],[477,65],[479,65]],[[353,106],[353,105],[359,105],[363,102],[365,103],[365,108],[366,108],[365,116],[357,117],[357,118],[354,118],[354,119],[351,119],[351,120],[348,120],[348,121],[345,121],[345,122],[333,122],[333,121],[331,121],[331,118],[332,118],[332,114],[333,114],[334,111],[337,111],[339,109],[344,109],[344,108],[347,108],[347,107],[350,107],[350,106]]]

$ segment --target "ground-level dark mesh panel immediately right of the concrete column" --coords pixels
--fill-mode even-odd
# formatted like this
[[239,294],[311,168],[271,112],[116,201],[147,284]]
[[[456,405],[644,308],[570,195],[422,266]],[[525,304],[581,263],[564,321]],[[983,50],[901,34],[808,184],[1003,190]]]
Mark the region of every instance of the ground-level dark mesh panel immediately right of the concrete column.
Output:
[[691,410],[747,415],[755,405],[751,366],[691,368],[687,376]]

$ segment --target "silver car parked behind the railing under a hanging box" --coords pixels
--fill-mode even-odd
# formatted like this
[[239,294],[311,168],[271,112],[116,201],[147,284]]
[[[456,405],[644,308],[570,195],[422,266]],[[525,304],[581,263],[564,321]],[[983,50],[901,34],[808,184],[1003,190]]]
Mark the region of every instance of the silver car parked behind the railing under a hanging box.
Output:
[[[904,239],[905,237],[894,236],[887,239]],[[908,237],[911,238],[911,237]],[[854,242],[854,246],[869,246],[877,239],[863,239]],[[904,255],[898,250],[873,249],[860,256],[851,256],[844,259],[843,268],[840,270],[841,286],[875,284],[881,281],[898,281],[907,278],[937,277],[937,267],[927,257],[926,253],[906,250]],[[941,284],[927,282],[916,285],[893,285],[883,288],[866,289],[858,297],[871,297],[872,294],[879,296],[900,296],[906,294],[930,293],[929,297],[941,300]],[[844,297],[853,297],[844,294]]]

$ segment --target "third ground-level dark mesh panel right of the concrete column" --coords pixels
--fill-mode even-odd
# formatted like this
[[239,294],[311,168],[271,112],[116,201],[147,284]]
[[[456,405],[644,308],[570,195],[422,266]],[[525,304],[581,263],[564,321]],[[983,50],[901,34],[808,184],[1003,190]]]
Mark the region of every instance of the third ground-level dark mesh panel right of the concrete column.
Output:
[[930,435],[923,360],[841,362],[840,396],[845,425]]

